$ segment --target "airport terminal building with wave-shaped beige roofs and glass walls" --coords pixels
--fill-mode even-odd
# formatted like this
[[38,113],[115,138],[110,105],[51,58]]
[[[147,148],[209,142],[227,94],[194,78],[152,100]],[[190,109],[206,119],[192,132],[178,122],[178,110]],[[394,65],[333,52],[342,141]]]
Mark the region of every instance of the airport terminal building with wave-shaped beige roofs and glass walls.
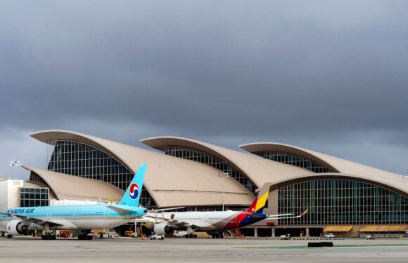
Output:
[[[60,201],[119,201],[140,163],[148,163],[141,205],[244,210],[271,183],[264,213],[305,217],[259,222],[247,234],[341,236],[403,234],[408,230],[408,178],[288,144],[261,142],[227,149],[183,137],[151,137],[152,150],[66,130],[31,135],[53,147],[32,184]],[[220,177],[228,173],[229,177]],[[224,189],[223,181],[224,180]]]

